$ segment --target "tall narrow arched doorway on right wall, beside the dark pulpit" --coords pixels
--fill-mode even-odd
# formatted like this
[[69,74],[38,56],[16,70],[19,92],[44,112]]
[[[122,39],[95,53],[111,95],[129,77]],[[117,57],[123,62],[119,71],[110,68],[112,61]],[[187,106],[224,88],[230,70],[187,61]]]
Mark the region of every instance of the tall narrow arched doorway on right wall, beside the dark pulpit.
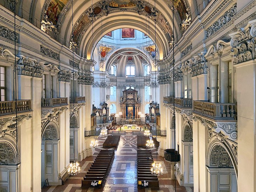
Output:
[[193,186],[193,131],[190,123],[186,123],[182,130],[183,145],[183,177],[184,186]]

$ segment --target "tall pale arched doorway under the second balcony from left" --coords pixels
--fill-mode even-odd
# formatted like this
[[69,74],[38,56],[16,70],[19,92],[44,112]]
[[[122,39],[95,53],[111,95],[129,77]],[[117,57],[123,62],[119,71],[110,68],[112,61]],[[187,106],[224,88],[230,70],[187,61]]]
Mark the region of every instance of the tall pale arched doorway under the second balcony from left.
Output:
[[51,122],[42,130],[41,143],[41,186],[48,179],[49,185],[61,185],[58,170],[58,148],[60,132],[58,126]]

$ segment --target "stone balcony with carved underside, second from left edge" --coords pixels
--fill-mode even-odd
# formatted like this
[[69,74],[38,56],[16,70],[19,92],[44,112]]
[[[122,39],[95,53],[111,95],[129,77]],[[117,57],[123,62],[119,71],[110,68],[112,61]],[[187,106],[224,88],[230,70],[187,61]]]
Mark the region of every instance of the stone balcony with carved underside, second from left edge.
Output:
[[45,119],[48,115],[55,116],[61,114],[68,109],[68,98],[42,98],[41,99],[41,119]]

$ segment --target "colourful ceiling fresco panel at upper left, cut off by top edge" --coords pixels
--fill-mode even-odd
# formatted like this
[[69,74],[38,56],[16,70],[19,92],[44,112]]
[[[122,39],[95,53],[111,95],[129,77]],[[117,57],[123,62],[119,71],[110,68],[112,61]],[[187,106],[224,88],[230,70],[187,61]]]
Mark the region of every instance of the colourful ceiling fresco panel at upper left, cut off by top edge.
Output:
[[54,25],[57,25],[60,13],[68,0],[51,0],[49,7],[47,8],[46,15],[48,20],[53,22]]

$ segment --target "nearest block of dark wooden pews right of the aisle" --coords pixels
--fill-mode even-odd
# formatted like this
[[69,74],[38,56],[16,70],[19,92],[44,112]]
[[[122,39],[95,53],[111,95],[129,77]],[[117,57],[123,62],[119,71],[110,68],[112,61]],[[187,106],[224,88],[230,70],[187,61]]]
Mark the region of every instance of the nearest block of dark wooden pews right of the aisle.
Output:
[[137,181],[138,187],[159,187],[156,175],[151,174],[154,163],[151,150],[137,150]]

